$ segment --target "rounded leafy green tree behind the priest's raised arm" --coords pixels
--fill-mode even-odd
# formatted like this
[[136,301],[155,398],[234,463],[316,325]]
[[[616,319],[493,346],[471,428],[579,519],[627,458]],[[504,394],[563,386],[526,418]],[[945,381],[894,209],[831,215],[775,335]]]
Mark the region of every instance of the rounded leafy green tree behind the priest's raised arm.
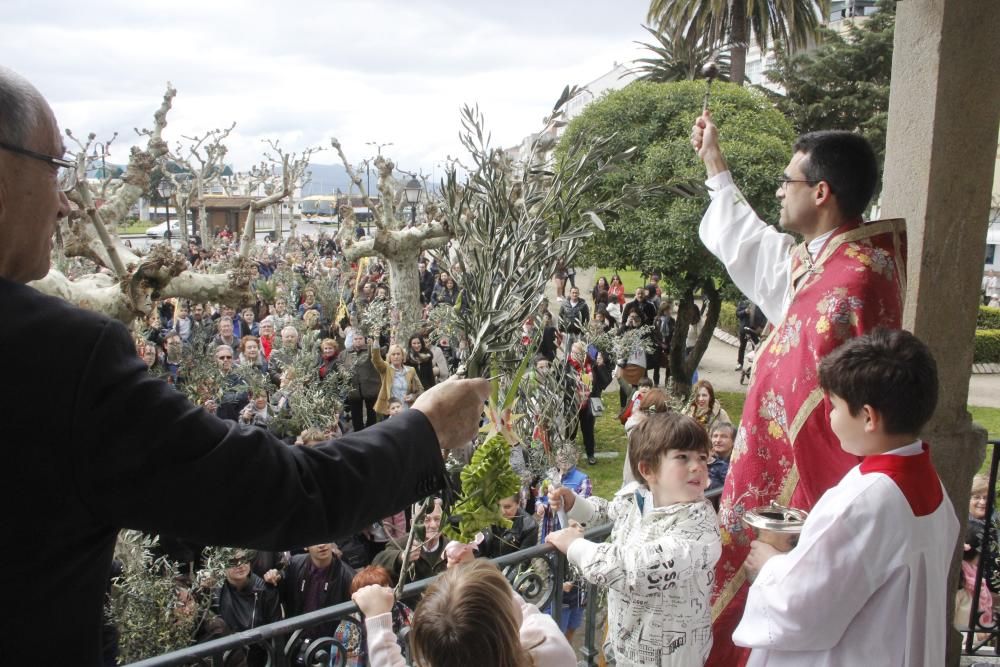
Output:
[[[694,81],[634,82],[584,109],[557,147],[559,159],[566,159],[566,147],[581,135],[611,137],[613,150],[636,147],[631,160],[602,170],[590,196],[607,201],[623,191],[644,194],[619,206],[616,216],[604,214],[605,230],[589,241],[585,253],[598,266],[631,266],[646,274],[658,271],[679,295],[670,353],[677,393],[688,391],[688,381],[718,321],[719,287],[728,282],[722,265],[698,238],[707,195],[678,193],[691,191],[690,184],[705,178],[705,168],[690,143],[704,93],[705,85]],[[763,93],[729,83],[713,86],[711,105],[736,182],[765,220],[776,220],[779,204],[774,192],[794,139],[791,124]],[[701,290],[708,306],[707,320],[698,344],[685,354],[696,290]]]

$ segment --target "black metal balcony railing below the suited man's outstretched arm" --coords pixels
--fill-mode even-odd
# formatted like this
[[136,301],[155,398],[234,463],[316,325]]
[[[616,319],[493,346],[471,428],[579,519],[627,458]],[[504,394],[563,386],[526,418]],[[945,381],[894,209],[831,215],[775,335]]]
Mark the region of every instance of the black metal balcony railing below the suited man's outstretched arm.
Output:
[[[586,531],[587,539],[604,541],[611,534],[612,524],[596,526]],[[504,572],[514,590],[527,602],[539,609],[551,607],[551,614],[558,623],[562,614],[562,585],[566,578],[566,557],[551,545],[543,544],[524,549],[507,556],[494,558],[493,562]],[[415,601],[434,582],[434,577],[413,582],[403,588],[402,601]],[[551,585],[550,585],[551,584]],[[587,606],[584,617],[584,642],[581,648],[581,664],[597,665],[600,647],[595,646],[597,589],[593,584],[585,584]],[[551,604],[554,602],[554,604]],[[164,653],[139,662],[133,667],[170,667],[174,665],[197,665],[222,667],[237,664],[247,649],[253,648],[258,654],[266,653],[269,667],[338,667],[343,665],[347,647],[332,636],[307,640],[304,631],[317,625],[333,622],[357,623],[353,615],[358,607],[353,602],[344,602],[333,607],[318,609],[308,614],[288,618],[277,623],[228,635],[203,644],[197,644],[179,651]],[[333,656],[331,660],[331,656]]]

